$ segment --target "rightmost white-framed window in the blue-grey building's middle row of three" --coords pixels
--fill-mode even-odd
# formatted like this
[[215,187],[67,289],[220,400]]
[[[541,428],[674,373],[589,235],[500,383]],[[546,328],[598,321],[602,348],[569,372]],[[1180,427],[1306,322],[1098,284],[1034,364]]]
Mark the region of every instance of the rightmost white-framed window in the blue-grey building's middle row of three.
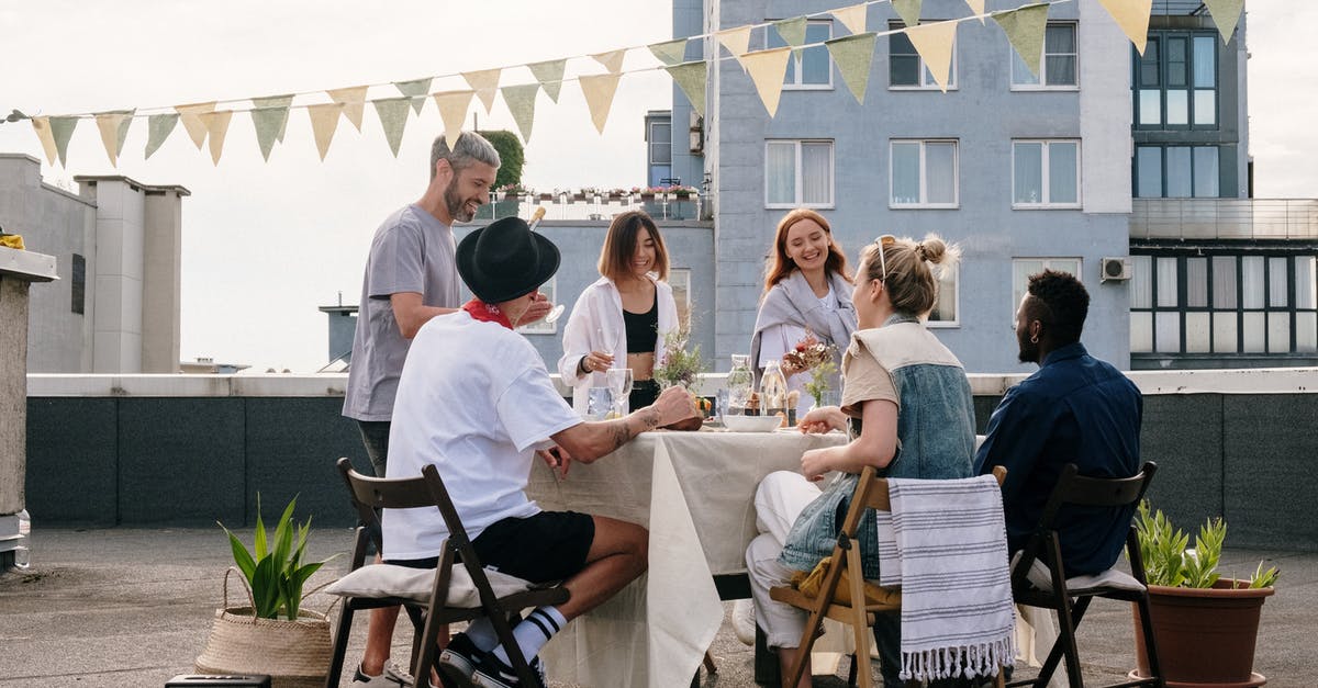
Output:
[[1079,207],[1079,141],[1012,141],[1014,208]]

